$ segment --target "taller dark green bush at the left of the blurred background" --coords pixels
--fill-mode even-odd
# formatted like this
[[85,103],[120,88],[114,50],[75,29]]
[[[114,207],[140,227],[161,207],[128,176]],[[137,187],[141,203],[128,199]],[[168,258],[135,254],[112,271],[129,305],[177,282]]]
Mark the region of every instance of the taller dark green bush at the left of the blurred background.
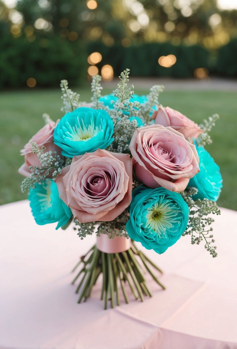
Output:
[[85,78],[86,59],[80,45],[56,36],[37,36],[29,42],[22,36],[5,35],[0,51],[0,89],[26,87],[30,77],[36,87],[58,86],[62,79],[75,85]]

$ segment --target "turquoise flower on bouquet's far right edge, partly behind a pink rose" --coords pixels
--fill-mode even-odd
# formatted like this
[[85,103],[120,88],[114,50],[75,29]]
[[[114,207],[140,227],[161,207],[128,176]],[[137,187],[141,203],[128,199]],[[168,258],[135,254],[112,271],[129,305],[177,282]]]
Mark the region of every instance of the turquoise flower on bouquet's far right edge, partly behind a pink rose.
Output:
[[217,201],[222,188],[220,168],[203,147],[198,147],[196,143],[195,146],[199,156],[200,172],[191,178],[188,183],[188,187],[198,189],[197,194],[193,196],[193,200],[207,198],[208,200]]

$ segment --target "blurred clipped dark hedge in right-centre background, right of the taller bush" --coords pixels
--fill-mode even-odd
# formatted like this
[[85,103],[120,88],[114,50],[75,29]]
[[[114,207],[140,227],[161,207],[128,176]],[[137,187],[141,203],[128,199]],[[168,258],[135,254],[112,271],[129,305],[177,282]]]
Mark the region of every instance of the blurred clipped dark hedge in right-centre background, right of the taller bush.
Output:
[[[190,77],[194,76],[196,68],[210,68],[210,52],[202,46],[193,45],[174,46],[167,43],[142,43],[123,47],[122,44],[115,44],[108,47],[101,42],[91,42],[87,46],[88,54],[100,52],[103,59],[98,64],[101,68],[104,64],[110,64],[114,74],[119,75],[124,67],[131,67],[133,76],[173,76]],[[170,68],[158,64],[158,58],[173,54],[177,62]]]

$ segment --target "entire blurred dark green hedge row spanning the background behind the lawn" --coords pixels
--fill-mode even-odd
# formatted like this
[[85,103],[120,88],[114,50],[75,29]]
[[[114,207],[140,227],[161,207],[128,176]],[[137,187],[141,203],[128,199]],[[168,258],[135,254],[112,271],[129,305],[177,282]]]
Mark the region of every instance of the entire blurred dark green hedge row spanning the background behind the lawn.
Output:
[[[95,51],[103,57],[98,68],[110,64],[115,76],[128,67],[133,76],[187,78],[194,76],[196,68],[204,67],[210,74],[237,77],[237,39],[211,52],[198,45],[142,43],[108,47],[102,42],[83,45],[57,36],[41,35],[28,42],[7,35],[0,40],[0,89],[26,86],[29,77],[36,80],[37,87],[58,86],[62,79],[67,79],[70,86],[79,85],[87,75],[87,57]],[[168,54],[174,54],[177,62],[170,68],[160,66],[158,58]]]

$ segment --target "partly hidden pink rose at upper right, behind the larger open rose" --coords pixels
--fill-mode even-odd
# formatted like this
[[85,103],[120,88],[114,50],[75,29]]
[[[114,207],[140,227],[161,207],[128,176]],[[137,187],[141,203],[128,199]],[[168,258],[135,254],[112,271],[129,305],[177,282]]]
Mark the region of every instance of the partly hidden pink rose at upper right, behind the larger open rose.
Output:
[[158,106],[158,110],[153,113],[152,119],[155,119],[156,125],[170,126],[190,140],[196,139],[203,132],[194,121],[170,107]]

